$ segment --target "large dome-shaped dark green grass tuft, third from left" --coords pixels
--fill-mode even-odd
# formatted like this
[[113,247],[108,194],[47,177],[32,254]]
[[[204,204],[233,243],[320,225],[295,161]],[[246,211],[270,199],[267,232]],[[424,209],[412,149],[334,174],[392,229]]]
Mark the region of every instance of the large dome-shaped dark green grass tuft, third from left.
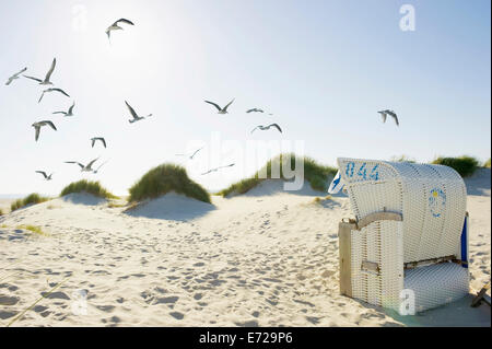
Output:
[[145,173],[130,189],[129,201],[155,199],[169,191],[211,203],[210,194],[188,177],[185,167],[165,163]]

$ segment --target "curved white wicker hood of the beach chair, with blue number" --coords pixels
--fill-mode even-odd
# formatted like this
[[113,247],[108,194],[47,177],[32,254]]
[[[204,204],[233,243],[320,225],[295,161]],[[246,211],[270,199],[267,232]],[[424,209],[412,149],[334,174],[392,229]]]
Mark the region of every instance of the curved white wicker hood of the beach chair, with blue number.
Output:
[[338,159],[358,219],[391,211],[403,216],[403,261],[448,255],[459,249],[466,187],[442,165]]

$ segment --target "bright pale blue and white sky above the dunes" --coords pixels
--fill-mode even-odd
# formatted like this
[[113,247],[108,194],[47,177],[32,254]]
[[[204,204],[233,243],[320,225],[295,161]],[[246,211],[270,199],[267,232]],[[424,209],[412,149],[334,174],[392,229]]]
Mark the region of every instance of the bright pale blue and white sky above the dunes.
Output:
[[[415,31],[400,30],[402,4]],[[164,162],[219,189],[278,151],[419,161],[491,154],[491,2],[155,0],[0,2],[0,194],[58,194],[81,178],[116,194]],[[126,18],[134,26],[105,30]],[[71,98],[27,79],[51,77]],[[203,100],[225,105],[218,115]],[[125,100],[153,117],[130,125]],[[52,115],[75,101],[72,118]],[[246,114],[253,107],[266,114]],[[400,127],[377,110],[398,113]],[[58,131],[34,128],[50,119]],[[276,130],[250,130],[278,123]],[[108,148],[91,148],[103,136]],[[229,141],[227,141],[229,140]],[[263,141],[258,142],[258,141]],[[194,161],[175,154],[206,146]],[[267,146],[272,146],[268,148]],[[256,151],[270,149],[262,153]],[[65,161],[109,162],[97,175]],[[210,167],[236,163],[209,175]],[[97,162],[96,162],[97,166]],[[36,170],[55,172],[45,182]]]

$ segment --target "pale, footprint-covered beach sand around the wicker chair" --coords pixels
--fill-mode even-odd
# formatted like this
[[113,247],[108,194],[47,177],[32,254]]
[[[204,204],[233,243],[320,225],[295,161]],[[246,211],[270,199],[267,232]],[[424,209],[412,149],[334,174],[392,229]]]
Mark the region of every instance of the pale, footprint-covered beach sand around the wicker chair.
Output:
[[[470,292],[490,280],[490,170],[467,181]],[[340,295],[338,222],[352,213],[347,197],[314,202],[324,196],[267,181],[213,205],[169,194],[125,212],[70,195],[10,213],[0,218],[0,326],[491,325],[471,294],[406,317]]]

